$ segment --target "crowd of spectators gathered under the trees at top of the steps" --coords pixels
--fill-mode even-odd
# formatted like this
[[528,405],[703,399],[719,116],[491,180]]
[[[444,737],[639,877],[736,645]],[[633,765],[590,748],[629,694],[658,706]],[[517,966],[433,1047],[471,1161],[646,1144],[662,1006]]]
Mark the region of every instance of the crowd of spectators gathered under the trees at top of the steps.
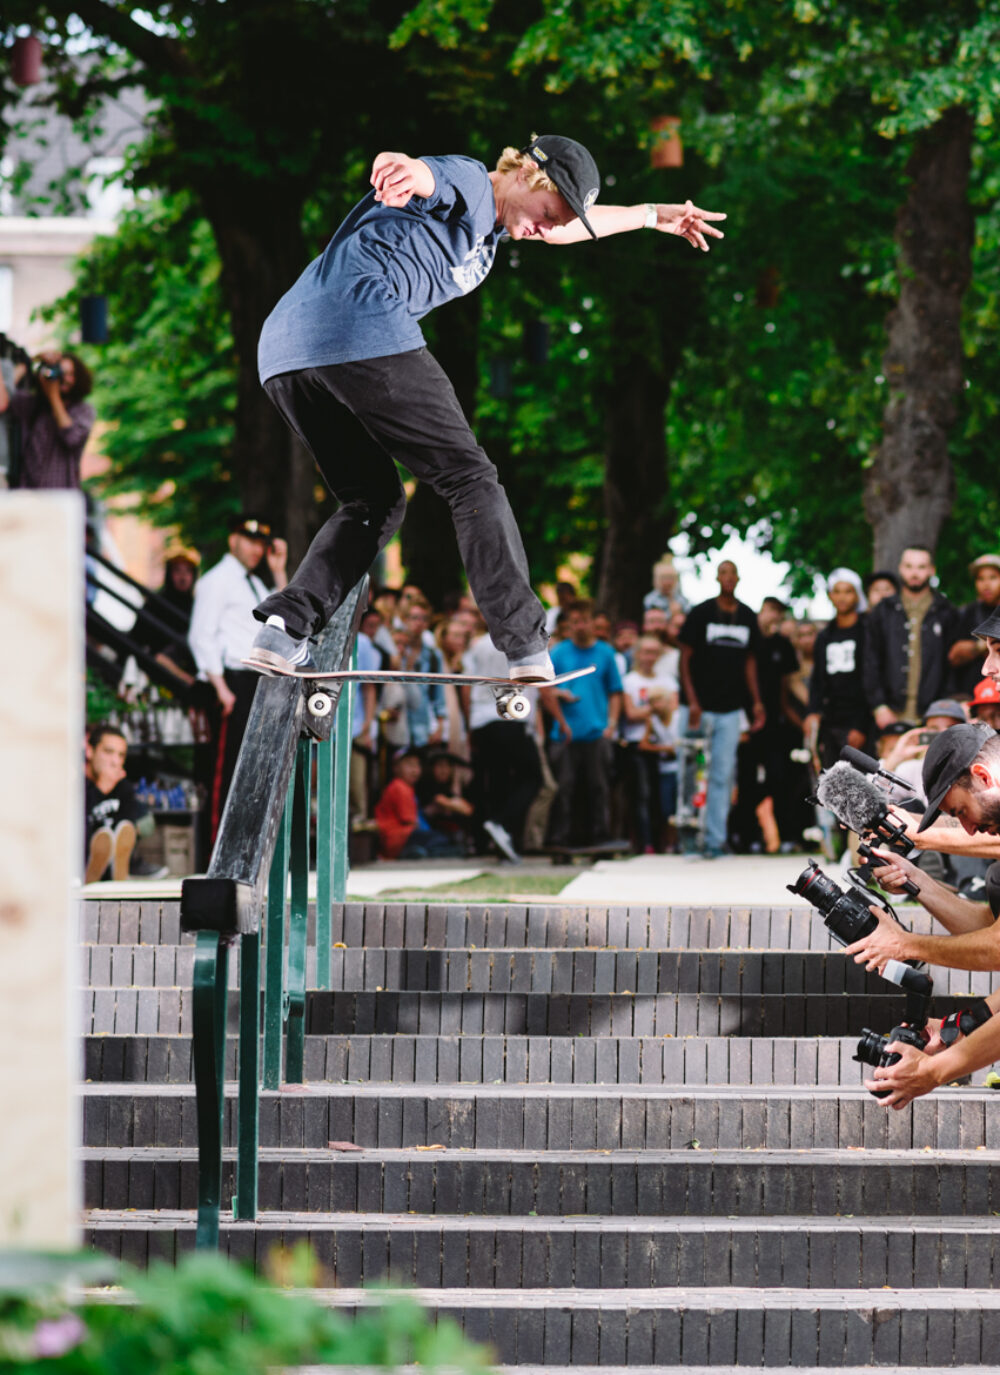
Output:
[[[190,609],[190,634],[157,649],[209,698],[213,826],[257,682],[242,663],[253,608],[285,565],[283,542],[248,514],[201,576],[191,551],[168,561],[162,593]],[[352,829],[387,859],[788,852],[814,846],[806,799],[845,744],[909,770],[919,795],[934,733],[977,716],[1000,726],[1000,692],[981,676],[971,634],[1000,605],[1000,556],[971,564],[964,605],[937,590],[927,550],[908,549],[897,569],[864,580],[834,569],[825,624],[795,619],[777,597],[746,605],[730,561],[717,578],[717,595],[689,605],[662,560],[637,619],[615,624],[561,582],[549,612],[556,674],[594,671],[528,688],[524,722],[499,719],[492,689],[473,682],[359,686]],[[410,583],[374,590],[358,666],[506,675],[468,594],[432,606]]]

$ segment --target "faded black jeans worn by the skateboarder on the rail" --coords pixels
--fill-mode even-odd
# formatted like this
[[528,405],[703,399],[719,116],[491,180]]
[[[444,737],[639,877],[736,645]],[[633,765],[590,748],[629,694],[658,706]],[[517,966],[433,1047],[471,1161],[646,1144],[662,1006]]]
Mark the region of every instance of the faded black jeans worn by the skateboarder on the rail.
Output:
[[506,492],[428,349],[282,373],[264,390],[341,505],[257,620],[283,616],[294,635],[322,630],[403,522],[398,459],[447,500],[494,645],[509,659],[545,649],[545,612]]

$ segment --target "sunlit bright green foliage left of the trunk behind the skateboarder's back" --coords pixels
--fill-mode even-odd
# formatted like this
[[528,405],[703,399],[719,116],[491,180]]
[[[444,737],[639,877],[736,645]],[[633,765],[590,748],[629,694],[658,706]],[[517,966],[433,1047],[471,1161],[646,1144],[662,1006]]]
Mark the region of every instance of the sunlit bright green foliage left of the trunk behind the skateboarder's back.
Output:
[[106,345],[81,348],[110,459],[102,496],[132,496],[139,516],[177,525],[198,547],[239,509],[231,480],[237,358],[212,231],[187,195],[139,199],[95,241],[54,314],[66,329],[78,297],[109,301]]

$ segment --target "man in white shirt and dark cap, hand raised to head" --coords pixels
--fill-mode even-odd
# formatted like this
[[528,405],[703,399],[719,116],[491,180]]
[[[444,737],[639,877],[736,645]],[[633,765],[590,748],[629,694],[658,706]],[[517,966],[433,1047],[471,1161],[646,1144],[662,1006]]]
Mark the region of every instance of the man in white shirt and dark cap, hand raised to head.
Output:
[[275,588],[283,587],[287,583],[287,544],[272,535],[267,521],[239,516],[230,528],[228,554],[223,554],[194,588],[187,642],[198,676],[215,689],[221,714],[212,788],[213,839],[257,685],[259,675],[243,666],[243,659],[259,630],[253,608],[270,595],[270,588],[256,573],[264,560]]

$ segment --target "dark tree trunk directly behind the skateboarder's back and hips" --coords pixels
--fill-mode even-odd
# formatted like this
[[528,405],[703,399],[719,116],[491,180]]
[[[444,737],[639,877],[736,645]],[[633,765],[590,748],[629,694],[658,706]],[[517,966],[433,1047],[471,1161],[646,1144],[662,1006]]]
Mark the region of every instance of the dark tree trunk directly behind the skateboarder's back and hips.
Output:
[[301,561],[320,512],[312,455],[294,439],[257,380],[257,340],[275,301],[305,265],[301,205],[289,198],[267,212],[227,194],[205,197],[221,258],[221,287],[238,360],[232,480],[243,509],[270,518],[289,543],[289,569]]

